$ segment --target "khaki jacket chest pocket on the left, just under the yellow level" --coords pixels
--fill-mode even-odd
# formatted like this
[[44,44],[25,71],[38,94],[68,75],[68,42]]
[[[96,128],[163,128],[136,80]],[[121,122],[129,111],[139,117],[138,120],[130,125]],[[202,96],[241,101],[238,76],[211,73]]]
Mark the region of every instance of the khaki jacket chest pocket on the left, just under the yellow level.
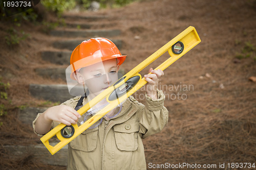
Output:
[[97,135],[99,127],[87,129],[70,142],[74,150],[92,152],[97,147]]

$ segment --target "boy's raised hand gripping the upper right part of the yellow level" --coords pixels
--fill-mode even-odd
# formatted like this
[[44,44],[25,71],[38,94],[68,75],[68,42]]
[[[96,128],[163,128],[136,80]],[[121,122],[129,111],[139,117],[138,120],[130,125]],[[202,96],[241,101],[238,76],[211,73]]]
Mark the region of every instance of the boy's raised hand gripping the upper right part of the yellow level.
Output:
[[150,68],[148,73],[150,72],[152,72],[152,74],[144,75],[145,81],[147,81],[146,93],[153,100],[156,100],[158,99],[157,97],[158,81],[159,81],[159,78],[164,75],[164,73],[161,69],[153,70],[153,68]]

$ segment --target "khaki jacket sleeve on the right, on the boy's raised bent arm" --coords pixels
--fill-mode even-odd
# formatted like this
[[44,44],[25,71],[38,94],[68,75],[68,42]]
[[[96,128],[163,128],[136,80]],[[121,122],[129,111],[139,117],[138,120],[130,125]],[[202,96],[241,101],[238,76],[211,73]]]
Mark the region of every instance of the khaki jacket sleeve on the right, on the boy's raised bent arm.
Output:
[[142,138],[160,132],[168,122],[168,110],[163,106],[165,95],[157,89],[158,99],[152,100],[146,93],[145,107],[140,110],[140,133]]

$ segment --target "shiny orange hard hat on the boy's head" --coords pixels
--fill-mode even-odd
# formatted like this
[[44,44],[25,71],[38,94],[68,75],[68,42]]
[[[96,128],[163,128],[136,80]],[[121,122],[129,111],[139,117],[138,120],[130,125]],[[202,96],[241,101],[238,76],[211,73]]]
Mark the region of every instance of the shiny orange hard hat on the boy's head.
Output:
[[109,39],[106,38],[91,38],[81,42],[71,54],[71,75],[70,77],[75,80],[75,71],[82,67],[93,65],[98,62],[116,58],[117,64],[121,65],[126,56],[121,55],[117,46]]

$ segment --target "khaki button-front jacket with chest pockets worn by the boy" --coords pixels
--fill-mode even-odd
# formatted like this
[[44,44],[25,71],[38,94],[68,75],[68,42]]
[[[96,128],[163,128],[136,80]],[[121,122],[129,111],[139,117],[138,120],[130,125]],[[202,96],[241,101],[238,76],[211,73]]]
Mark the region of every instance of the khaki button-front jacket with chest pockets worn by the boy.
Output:
[[[146,169],[142,138],[163,129],[168,122],[168,111],[163,106],[162,90],[158,90],[157,100],[146,94],[145,97],[144,106],[130,96],[116,117],[109,121],[103,118],[98,127],[87,129],[73,139],[68,147],[67,169]],[[74,108],[79,99],[63,104]]]

